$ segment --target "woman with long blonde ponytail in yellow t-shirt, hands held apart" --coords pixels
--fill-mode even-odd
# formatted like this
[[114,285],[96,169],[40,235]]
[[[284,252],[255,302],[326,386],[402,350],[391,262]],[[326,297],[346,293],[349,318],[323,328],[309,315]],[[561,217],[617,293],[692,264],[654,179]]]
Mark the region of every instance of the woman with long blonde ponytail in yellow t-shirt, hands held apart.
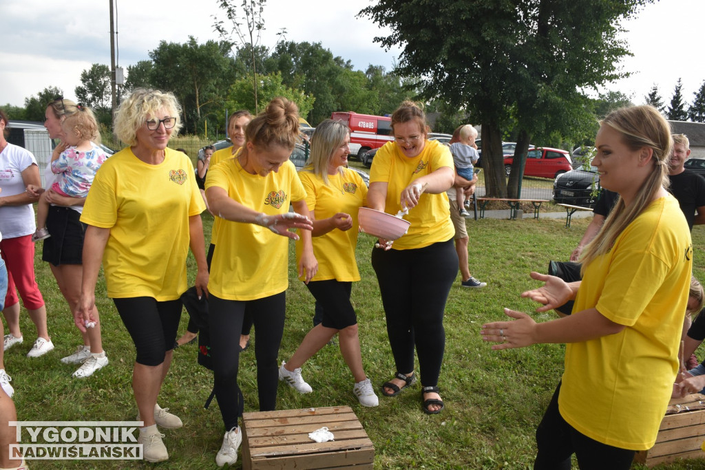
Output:
[[678,372],[678,347],[692,268],[685,216],[668,194],[668,122],[651,106],[610,113],[595,138],[600,184],[620,197],[582,253],[582,281],[545,281],[529,297],[547,311],[575,299],[573,313],[535,323],[488,323],[494,350],[568,343],[565,371],[537,429],[535,469],[629,469],[654,445]]

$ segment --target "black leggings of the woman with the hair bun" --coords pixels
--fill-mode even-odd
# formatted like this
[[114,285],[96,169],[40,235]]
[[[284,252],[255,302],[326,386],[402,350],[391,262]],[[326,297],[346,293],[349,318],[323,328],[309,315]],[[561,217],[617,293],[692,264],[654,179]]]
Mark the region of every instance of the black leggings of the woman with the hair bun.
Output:
[[211,294],[208,297],[208,313],[214,390],[226,431],[238,426],[238,417],[243,414],[243,394],[238,386],[238,362],[245,307],[252,314],[257,333],[255,360],[259,411],[270,412],[276,409],[276,388],[279,384],[277,357],[284,333],[286,292],[247,301],[225,300]]

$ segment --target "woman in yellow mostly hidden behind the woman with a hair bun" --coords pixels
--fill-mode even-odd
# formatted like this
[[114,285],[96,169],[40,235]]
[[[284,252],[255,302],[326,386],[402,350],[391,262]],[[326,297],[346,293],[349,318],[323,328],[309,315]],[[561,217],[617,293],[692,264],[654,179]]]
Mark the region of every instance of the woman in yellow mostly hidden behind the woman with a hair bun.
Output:
[[[237,151],[240,150],[240,147],[243,147],[243,145],[245,144],[245,128],[247,128],[247,124],[250,123],[250,120],[252,120],[252,114],[250,114],[250,111],[247,111],[246,109],[235,111],[228,117],[228,137],[230,138],[231,142],[233,142],[233,145],[232,147],[226,147],[224,149],[217,150],[211,156],[210,163],[207,165],[209,168],[213,168],[218,163],[221,163],[221,161],[233,158]],[[203,197],[205,197],[206,174],[207,172],[203,174]],[[216,249],[216,245],[214,245],[213,240],[216,239],[216,233],[218,233],[218,225],[220,225],[220,221],[221,219],[217,215],[213,216],[213,227],[211,229],[211,245],[208,247],[208,254],[206,255],[206,261],[208,263],[209,271],[211,268],[211,261],[213,259],[213,252]],[[243,332],[245,333],[240,335],[240,347],[242,347],[243,350],[245,350],[245,348],[247,347],[247,342],[250,340],[250,327],[252,327],[252,320],[249,320],[249,316],[245,314],[245,321],[243,322]],[[176,345],[183,346],[187,342],[195,340],[197,334],[198,326],[196,322],[193,319],[189,319],[186,331],[185,333],[183,333],[181,338],[176,340]]]

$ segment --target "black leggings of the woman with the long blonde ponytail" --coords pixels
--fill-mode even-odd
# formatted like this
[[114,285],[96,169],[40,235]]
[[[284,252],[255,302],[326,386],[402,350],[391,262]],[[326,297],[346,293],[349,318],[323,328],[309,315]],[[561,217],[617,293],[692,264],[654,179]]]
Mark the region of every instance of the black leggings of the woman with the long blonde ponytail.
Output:
[[635,451],[599,443],[570,426],[558,411],[558,392],[560,383],[536,430],[539,451],[534,469],[570,470],[572,454],[581,470],[630,469]]

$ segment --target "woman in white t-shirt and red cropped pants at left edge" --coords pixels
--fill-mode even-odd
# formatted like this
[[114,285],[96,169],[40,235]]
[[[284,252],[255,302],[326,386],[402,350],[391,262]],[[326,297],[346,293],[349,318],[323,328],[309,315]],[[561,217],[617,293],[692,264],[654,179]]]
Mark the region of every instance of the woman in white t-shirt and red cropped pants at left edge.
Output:
[[[27,191],[27,185],[40,186],[39,166],[32,153],[7,142],[9,132],[6,114],[0,111],[0,251],[8,271],[8,288],[2,313],[10,333],[5,335],[4,350],[23,342],[20,331],[20,292],[22,302],[37,327],[37,340],[27,357],[39,357],[54,349],[47,331],[47,308],[35,278],[35,247],[32,233],[36,230],[32,204],[39,197]],[[0,381],[3,380],[0,377]]]

